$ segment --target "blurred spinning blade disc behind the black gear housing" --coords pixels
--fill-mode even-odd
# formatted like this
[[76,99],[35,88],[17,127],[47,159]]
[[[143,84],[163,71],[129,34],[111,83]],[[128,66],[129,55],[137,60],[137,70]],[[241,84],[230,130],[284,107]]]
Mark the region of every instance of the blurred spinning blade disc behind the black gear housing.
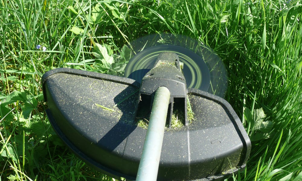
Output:
[[182,69],[187,87],[224,97],[227,88],[226,69],[220,58],[208,47],[184,35],[155,34],[130,43],[136,54],[125,68],[125,77],[141,82],[161,52],[174,52],[184,63]]

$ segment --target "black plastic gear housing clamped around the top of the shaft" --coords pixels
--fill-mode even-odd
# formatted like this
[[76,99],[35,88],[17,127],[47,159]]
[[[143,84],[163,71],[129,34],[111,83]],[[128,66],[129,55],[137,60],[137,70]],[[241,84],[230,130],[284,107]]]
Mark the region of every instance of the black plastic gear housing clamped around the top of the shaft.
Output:
[[[150,107],[153,104],[153,94],[156,90],[164,86],[169,89],[170,100],[167,118],[169,125],[172,124],[173,108],[178,107],[184,113],[184,123],[188,125],[187,116],[187,84],[185,76],[180,68],[179,57],[173,52],[162,52],[156,59],[153,68],[147,72],[140,84],[140,97],[148,97],[148,101],[139,103],[139,108],[142,106]],[[174,104],[176,102],[176,104]]]

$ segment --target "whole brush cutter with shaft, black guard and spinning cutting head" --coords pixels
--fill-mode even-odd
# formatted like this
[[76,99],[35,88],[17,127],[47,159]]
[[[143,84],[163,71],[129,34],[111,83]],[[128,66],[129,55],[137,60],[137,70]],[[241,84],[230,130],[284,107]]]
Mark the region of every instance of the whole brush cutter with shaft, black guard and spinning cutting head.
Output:
[[230,104],[213,95],[226,87],[221,69],[214,72],[217,58],[208,64],[204,48],[190,48],[188,38],[185,46],[157,38],[141,40],[127,77],[69,68],[45,73],[51,125],[76,155],[114,178],[219,180],[237,173],[251,143]]

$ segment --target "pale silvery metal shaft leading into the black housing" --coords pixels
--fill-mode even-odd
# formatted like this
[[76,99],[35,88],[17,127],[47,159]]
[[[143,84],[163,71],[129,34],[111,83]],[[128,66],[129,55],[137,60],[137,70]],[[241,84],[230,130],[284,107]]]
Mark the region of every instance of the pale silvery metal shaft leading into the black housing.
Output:
[[137,181],[155,181],[157,178],[169,99],[170,91],[167,87],[159,87],[156,90],[143,153],[137,171]]

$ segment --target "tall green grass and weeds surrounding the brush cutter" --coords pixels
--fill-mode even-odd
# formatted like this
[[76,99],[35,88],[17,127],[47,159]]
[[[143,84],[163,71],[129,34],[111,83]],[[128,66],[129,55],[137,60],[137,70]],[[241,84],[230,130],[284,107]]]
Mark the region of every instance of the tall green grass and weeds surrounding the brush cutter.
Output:
[[123,46],[156,32],[198,39],[225,63],[225,99],[252,140],[246,170],[233,179],[302,179],[300,1],[0,4],[1,180],[113,180],[76,158],[55,134],[41,76],[58,67],[122,75],[131,56]]

